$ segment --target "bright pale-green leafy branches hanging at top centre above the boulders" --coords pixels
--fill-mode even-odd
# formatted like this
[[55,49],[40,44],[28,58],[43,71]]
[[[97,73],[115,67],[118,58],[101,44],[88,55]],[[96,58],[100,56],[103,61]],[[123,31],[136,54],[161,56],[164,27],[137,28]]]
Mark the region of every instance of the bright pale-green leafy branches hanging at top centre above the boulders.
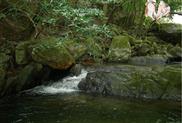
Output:
[[[105,36],[110,37],[111,32],[106,24],[102,23],[105,15],[102,10],[91,7],[73,7],[68,0],[42,1],[41,12],[43,16],[37,16],[42,25],[56,26],[62,24],[67,31],[63,36],[87,37]],[[97,24],[97,21],[101,23]]]

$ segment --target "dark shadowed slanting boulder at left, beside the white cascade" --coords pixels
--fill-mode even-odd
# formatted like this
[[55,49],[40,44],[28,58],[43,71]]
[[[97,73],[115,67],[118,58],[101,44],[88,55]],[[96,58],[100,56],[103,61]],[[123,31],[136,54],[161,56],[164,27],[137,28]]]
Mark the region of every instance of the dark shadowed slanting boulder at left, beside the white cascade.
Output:
[[41,64],[31,63],[26,65],[15,76],[7,78],[0,95],[17,93],[39,85],[40,80],[38,78],[41,76],[42,69],[43,66]]

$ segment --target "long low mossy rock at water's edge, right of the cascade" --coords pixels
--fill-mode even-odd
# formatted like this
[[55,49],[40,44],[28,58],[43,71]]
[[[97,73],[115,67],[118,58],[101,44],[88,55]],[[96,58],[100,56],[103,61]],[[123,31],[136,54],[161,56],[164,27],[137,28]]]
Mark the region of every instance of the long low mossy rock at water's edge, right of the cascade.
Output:
[[180,68],[120,65],[88,73],[78,87],[89,93],[144,99],[181,99]]

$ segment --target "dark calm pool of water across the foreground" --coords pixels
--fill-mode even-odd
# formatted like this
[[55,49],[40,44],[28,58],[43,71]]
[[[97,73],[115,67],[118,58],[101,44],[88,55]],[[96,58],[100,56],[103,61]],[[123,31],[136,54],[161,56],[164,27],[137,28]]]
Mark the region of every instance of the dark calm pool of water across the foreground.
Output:
[[181,123],[180,102],[71,93],[0,99],[0,123]]

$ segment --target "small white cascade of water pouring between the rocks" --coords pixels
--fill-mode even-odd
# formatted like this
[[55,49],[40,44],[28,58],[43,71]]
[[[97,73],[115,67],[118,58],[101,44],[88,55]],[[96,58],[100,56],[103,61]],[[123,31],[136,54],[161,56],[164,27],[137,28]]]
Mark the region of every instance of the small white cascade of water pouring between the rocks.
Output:
[[55,82],[51,85],[41,85],[31,89],[32,93],[38,94],[57,94],[57,93],[70,93],[79,91],[79,82],[87,76],[87,71],[82,70],[78,76],[68,76],[63,78],[61,81]]

